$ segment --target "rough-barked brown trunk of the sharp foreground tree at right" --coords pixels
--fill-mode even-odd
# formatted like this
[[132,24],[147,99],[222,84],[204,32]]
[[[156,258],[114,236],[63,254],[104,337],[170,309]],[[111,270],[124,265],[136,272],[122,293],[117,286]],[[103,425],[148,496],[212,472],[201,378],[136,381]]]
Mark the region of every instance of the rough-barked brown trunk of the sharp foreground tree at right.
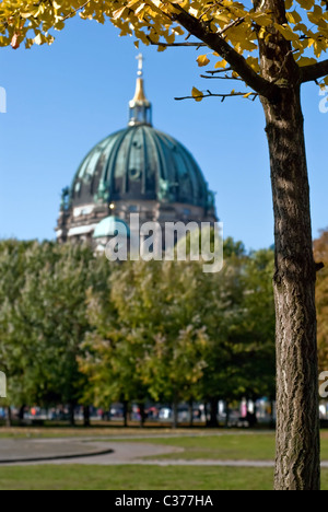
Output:
[[300,86],[261,98],[274,209],[277,490],[319,490],[319,409],[309,186]]

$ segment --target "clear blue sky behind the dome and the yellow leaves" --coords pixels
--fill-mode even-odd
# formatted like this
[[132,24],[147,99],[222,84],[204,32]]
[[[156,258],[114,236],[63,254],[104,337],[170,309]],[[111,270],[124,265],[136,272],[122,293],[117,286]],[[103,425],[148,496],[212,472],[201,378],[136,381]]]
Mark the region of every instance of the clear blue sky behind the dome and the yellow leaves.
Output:
[[[223,89],[221,81],[199,78],[195,48],[141,49],[154,126],[194,153],[216,193],[225,236],[247,248],[271,245],[269,156],[259,102],[176,102],[192,85],[221,92],[225,83]],[[133,39],[119,38],[109,22],[79,19],[50,47],[1,48],[8,113],[0,114],[0,237],[55,236],[61,189],[89,150],[127,124],[137,54]],[[328,114],[319,112],[320,100],[314,84],[304,88],[314,236],[328,226]]]

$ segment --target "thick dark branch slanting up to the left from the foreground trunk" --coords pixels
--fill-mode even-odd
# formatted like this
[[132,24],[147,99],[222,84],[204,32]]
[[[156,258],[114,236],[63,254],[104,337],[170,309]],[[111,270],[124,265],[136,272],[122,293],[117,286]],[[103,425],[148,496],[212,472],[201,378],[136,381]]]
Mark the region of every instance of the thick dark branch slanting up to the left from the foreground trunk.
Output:
[[211,48],[213,51],[216,51],[216,54],[225,59],[233,68],[233,70],[237,72],[244,82],[254,91],[268,98],[272,98],[279,92],[277,84],[272,84],[268,80],[257,74],[254,69],[248,66],[246,59],[239,55],[229,43],[226,43],[224,38],[222,38],[219,34],[210,32],[204,23],[201,23],[196,18],[191,16],[179,4],[174,3],[173,5],[178,12],[173,13],[172,19],[177,21],[190,34],[206,43],[209,48]]

